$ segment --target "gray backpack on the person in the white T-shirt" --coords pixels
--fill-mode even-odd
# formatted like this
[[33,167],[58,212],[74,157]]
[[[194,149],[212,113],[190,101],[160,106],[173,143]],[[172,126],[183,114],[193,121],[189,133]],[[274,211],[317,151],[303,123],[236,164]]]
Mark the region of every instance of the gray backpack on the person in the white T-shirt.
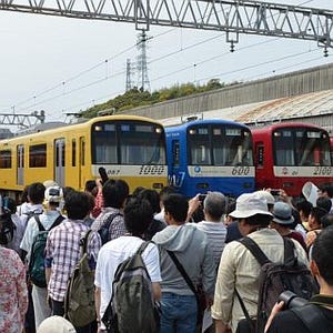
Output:
[[114,274],[111,301],[102,322],[107,332],[159,332],[159,310],[154,304],[152,284],[141,254],[149,242],[121,263]]

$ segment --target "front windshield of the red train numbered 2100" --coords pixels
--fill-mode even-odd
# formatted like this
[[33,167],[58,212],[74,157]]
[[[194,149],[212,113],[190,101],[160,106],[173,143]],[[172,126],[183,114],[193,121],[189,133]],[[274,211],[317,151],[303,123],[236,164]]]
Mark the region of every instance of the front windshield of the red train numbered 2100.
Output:
[[275,165],[330,167],[330,138],[325,131],[285,128],[273,132]]

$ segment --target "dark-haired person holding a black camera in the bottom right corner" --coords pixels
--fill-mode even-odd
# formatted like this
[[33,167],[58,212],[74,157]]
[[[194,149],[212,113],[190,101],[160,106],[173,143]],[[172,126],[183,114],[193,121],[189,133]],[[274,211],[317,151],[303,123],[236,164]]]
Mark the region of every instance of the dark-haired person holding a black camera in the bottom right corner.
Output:
[[[317,235],[312,250],[310,269],[320,285],[320,294],[309,302],[300,302],[299,297],[284,297],[273,307],[265,333],[333,332],[332,251],[333,225]],[[300,303],[305,305],[297,306]]]

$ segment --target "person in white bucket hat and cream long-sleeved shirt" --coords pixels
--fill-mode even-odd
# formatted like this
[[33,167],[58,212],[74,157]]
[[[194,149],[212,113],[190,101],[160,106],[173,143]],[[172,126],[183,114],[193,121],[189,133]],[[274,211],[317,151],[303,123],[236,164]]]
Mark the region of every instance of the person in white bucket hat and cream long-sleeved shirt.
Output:
[[[242,235],[255,241],[272,262],[283,262],[283,239],[276,230],[269,228],[273,215],[268,211],[266,200],[261,194],[240,195],[230,215],[238,219]],[[299,261],[307,264],[304,250],[297,242],[294,243]],[[259,262],[242,243],[231,242],[225,245],[211,309],[216,333],[230,332],[230,329],[235,332],[240,320],[244,319],[235,290],[250,316],[256,314],[260,271]]]

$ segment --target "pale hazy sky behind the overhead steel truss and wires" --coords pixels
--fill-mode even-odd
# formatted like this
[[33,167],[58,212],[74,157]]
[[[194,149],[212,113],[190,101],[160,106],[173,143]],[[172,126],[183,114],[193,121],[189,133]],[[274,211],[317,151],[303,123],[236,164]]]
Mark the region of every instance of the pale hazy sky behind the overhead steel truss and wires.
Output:
[[[332,0],[279,3],[333,10]],[[46,121],[69,121],[65,113],[124,92],[127,59],[134,65],[139,54],[134,24],[3,10],[0,22],[1,113],[44,110]],[[151,26],[147,34],[151,91],[210,79],[251,81],[333,61],[333,49],[324,58],[312,41],[240,34],[230,52],[224,32]],[[138,85],[134,69],[132,80]]]

